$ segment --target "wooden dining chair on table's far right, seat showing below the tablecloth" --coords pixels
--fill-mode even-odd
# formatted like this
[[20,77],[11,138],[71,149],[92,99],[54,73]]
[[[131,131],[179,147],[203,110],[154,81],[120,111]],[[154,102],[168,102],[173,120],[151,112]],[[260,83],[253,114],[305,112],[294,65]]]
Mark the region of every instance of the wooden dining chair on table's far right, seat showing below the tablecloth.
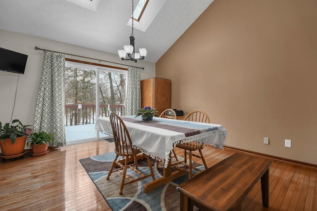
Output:
[[[189,113],[185,119],[185,121],[192,121],[192,122],[200,122],[200,123],[210,123],[210,119],[208,117],[208,115],[203,112],[203,111],[193,111],[191,113]],[[176,164],[174,164],[174,166],[180,170],[184,170],[189,174],[189,178],[193,177],[193,169],[201,171],[201,169],[198,169],[196,167],[193,167],[192,164],[192,156],[195,156],[197,158],[201,158],[205,169],[208,169],[205,158],[203,156],[202,153],[202,149],[204,148],[203,144],[197,142],[197,141],[193,141],[193,142],[188,142],[188,143],[183,143],[183,144],[176,144],[176,147],[184,149],[184,161],[183,162],[178,162]],[[199,151],[199,155],[197,154],[193,154],[193,151]],[[187,152],[188,151],[188,152]],[[187,164],[187,154],[189,155],[189,164]],[[177,167],[177,164],[182,164],[186,167],[188,167],[188,169],[184,169],[184,168],[179,168]]]

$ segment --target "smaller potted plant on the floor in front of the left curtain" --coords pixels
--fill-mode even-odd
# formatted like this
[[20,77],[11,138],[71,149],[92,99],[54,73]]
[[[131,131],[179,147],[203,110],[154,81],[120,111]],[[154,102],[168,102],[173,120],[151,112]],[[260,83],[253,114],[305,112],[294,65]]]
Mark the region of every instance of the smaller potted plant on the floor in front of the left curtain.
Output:
[[49,144],[55,143],[53,133],[47,133],[45,131],[32,132],[28,136],[28,145],[32,147],[33,156],[42,156],[48,154]]

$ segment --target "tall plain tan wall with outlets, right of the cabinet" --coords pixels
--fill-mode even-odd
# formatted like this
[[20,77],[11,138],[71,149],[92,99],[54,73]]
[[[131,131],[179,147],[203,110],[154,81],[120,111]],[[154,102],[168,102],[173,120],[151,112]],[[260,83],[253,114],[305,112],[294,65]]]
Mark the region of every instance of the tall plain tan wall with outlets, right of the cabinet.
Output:
[[229,146],[317,164],[316,8],[214,0],[156,64],[156,77],[171,80],[172,108],[206,111]]

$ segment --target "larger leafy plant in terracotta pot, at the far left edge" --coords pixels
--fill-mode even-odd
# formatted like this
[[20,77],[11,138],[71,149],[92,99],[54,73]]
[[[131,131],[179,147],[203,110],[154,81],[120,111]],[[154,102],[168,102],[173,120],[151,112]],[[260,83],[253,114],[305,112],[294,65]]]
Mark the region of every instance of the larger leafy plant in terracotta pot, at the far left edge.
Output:
[[2,158],[17,158],[24,155],[24,147],[27,138],[26,130],[30,126],[23,125],[19,120],[13,120],[11,124],[0,122],[0,148]]

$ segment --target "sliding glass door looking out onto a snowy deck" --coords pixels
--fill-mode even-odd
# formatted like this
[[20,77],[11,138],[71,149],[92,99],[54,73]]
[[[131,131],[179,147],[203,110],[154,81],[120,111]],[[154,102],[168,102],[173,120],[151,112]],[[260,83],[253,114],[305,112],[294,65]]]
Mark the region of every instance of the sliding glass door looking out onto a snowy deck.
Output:
[[96,120],[123,114],[127,71],[74,62],[65,71],[66,144],[105,138],[95,131]]

